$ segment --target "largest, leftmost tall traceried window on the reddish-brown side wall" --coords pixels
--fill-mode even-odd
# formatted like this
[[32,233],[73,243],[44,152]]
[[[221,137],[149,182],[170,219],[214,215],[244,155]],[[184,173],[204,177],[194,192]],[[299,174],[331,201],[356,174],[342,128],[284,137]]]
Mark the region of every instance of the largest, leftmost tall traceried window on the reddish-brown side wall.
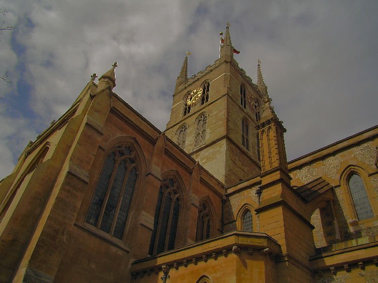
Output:
[[85,221],[122,239],[137,179],[135,152],[115,147],[105,159]]

